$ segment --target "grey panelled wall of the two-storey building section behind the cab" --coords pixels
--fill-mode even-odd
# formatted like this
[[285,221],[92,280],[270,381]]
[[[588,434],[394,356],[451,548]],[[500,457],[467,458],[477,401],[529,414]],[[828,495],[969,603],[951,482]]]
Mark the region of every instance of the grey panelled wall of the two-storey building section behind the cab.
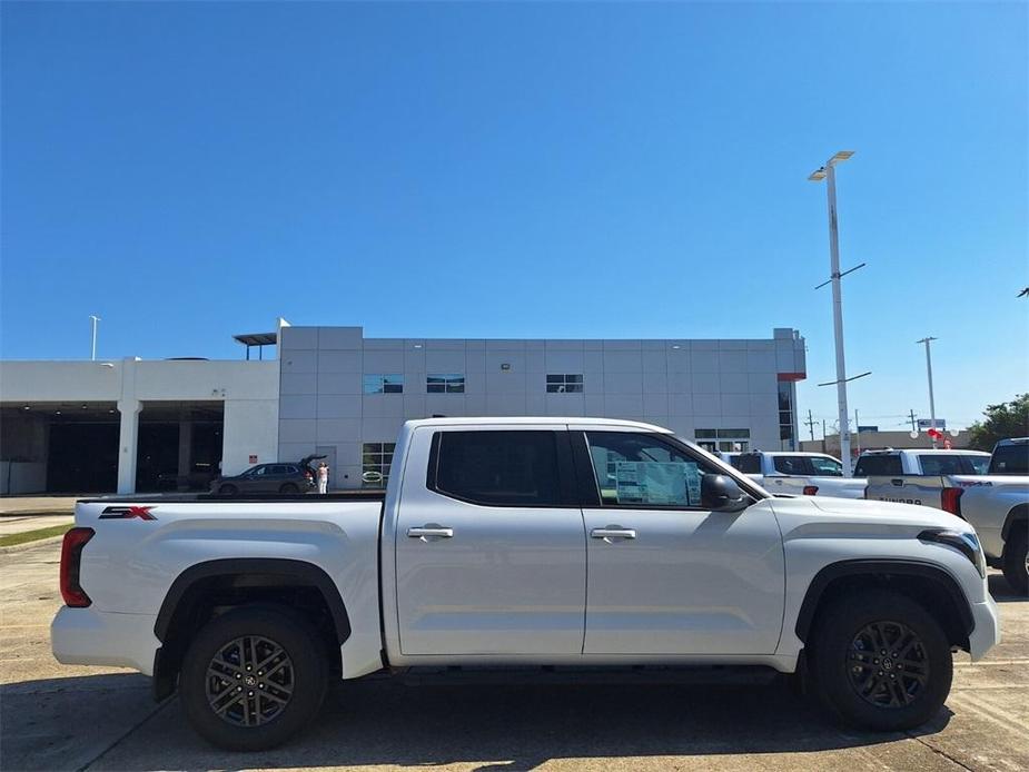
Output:
[[[366,339],[360,327],[280,336],[279,457],[335,447],[343,487],[360,484],[362,443],[393,442],[404,420],[434,414],[629,418],[690,439],[745,428],[752,448],[779,449],[780,374],[805,369],[792,329],[751,340]],[[465,393],[426,393],[434,373],[463,374]],[[363,374],[403,375],[404,393],[363,394]],[[582,374],[584,390],[548,394],[547,374]]]

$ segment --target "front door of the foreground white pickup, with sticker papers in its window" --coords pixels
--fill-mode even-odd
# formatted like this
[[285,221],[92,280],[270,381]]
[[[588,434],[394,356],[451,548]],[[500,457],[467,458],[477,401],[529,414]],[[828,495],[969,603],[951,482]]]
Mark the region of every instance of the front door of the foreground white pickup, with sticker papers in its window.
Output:
[[654,433],[573,433],[600,504],[583,509],[586,654],[771,654],[782,626],[779,525],[758,503],[701,506],[723,474]]

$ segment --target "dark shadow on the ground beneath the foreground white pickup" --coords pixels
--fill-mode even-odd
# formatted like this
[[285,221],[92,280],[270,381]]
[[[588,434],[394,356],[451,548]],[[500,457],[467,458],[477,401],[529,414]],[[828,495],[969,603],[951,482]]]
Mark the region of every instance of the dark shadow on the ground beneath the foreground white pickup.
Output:
[[[942,730],[944,710],[921,734]],[[373,679],[333,689],[319,720],[274,751],[226,753],[171,701],[89,769],[278,769],[349,765],[532,770],[561,759],[636,766],[647,756],[798,753],[901,740],[848,731],[783,680],[756,686],[562,683],[408,686]],[[810,758],[794,760],[797,765]],[[666,766],[660,760],[654,768]]]

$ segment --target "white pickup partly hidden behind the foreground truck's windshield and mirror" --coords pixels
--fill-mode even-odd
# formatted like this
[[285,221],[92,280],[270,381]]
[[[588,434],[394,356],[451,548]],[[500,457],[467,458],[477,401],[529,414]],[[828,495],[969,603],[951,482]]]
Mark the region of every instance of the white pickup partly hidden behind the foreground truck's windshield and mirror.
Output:
[[863,498],[864,481],[843,476],[843,463],[824,453],[720,453],[722,461],[772,493]]

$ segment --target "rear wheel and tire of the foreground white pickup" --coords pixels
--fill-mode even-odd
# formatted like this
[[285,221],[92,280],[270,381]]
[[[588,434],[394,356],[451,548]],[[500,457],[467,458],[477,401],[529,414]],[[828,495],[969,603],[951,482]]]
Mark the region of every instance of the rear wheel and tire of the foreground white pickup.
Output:
[[[285,660],[273,659],[283,655]],[[269,660],[264,680],[258,680],[256,663]],[[209,675],[211,671],[226,677]],[[239,680],[238,696],[232,674]],[[222,614],[200,630],[186,652],[179,692],[187,720],[209,743],[263,751],[314,721],[327,682],[325,650],[307,621],[283,606],[254,605]]]

